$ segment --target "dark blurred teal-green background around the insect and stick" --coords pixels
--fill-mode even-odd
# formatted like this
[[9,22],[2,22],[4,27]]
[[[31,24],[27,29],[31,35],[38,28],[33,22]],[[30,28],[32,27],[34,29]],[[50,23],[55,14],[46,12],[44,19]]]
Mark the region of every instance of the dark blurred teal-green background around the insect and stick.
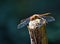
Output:
[[27,27],[17,30],[21,19],[35,13],[52,13],[48,23],[49,44],[60,44],[60,0],[0,0],[0,44],[30,44]]

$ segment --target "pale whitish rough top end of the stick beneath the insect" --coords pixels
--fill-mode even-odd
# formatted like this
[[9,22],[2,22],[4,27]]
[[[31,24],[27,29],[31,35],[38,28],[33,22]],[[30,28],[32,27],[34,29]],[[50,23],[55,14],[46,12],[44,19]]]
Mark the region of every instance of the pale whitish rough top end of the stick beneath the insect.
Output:
[[46,23],[46,20],[43,18],[35,19],[35,20],[29,22],[29,28],[30,29],[36,29],[37,27],[40,28],[45,23]]

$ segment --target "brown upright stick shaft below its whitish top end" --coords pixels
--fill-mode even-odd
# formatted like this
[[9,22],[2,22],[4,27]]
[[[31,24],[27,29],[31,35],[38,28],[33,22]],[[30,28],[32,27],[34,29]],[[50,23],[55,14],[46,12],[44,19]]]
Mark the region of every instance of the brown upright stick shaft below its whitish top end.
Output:
[[29,29],[29,35],[31,44],[48,44],[46,37],[46,25],[43,25],[41,28]]

